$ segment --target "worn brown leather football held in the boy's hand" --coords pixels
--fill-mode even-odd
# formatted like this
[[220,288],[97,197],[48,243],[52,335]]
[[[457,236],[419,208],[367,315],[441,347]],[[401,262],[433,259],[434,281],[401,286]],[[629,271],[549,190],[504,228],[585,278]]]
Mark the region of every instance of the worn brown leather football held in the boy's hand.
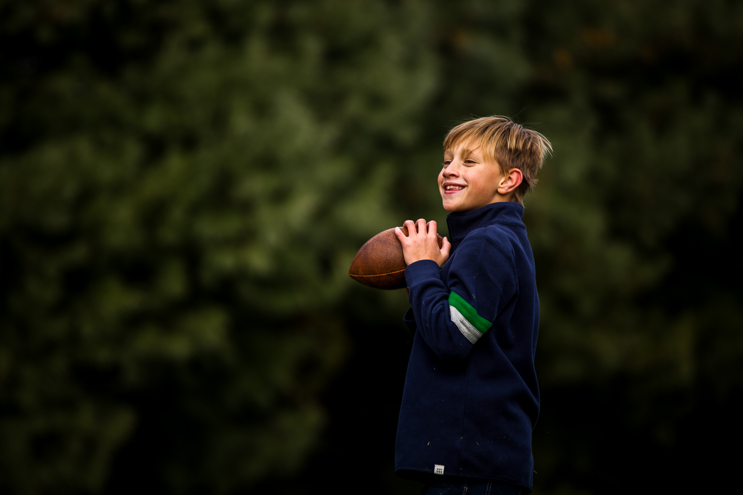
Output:
[[[407,227],[400,227],[408,235]],[[438,235],[438,234],[437,234]],[[438,235],[438,247],[444,238]],[[395,227],[371,237],[356,253],[348,275],[354,281],[374,289],[403,289],[405,283],[405,258],[403,245],[395,235]]]

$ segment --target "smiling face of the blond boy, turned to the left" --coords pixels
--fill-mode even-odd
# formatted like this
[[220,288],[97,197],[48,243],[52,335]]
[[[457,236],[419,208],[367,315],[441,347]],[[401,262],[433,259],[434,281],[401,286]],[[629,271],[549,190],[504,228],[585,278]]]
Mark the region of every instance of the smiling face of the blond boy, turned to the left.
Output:
[[494,160],[486,160],[481,148],[468,143],[444,152],[444,167],[438,174],[438,191],[447,212],[467,212],[504,201],[498,188],[504,179]]

